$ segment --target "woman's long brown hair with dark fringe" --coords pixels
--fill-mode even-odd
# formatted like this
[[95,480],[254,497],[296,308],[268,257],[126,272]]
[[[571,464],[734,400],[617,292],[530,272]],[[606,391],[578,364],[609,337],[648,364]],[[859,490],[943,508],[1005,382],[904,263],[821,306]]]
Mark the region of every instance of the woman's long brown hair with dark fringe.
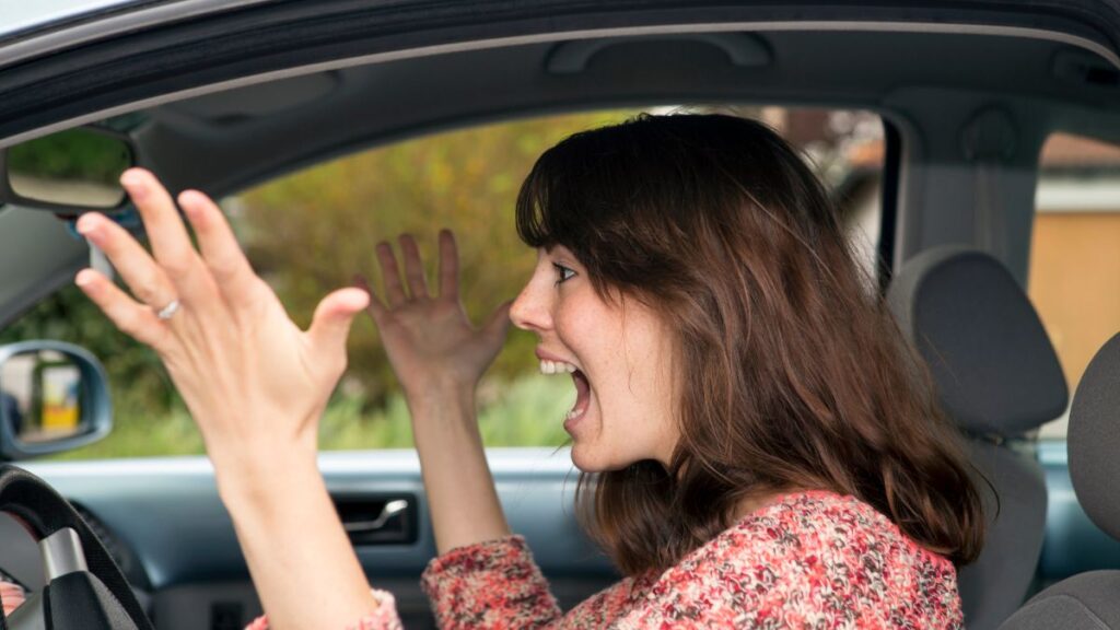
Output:
[[581,521],[623,572],[668,568],[744,499],[792,489],[855,495],[954,563],[977,556],[980,497],[925,368],[773,130],[643,114],[577,133],[538,159],[516,212],[528,244],[564,245],[601,296],[675,331],[669,470],[580,476]]

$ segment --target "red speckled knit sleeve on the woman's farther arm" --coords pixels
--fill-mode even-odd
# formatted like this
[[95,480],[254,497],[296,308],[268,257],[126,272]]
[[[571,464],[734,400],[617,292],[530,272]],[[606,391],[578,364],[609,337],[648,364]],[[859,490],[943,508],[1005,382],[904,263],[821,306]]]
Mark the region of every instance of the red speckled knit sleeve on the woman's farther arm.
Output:
[[421,586],[444,630],[542,628],[561,615],[521,536],[460,547],[432,559]]

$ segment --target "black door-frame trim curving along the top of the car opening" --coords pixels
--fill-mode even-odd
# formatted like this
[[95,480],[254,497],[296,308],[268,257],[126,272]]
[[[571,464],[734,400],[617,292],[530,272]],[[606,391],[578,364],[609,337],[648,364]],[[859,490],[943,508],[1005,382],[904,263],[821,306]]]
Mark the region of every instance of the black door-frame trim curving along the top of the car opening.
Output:
[[[253,74],[439,44],[588,28],[862,21],[1056,30],[1113,50],[1120,13],[1044,2],[278,1],[55,52],[0,71],[0,138]],[[1100,2],[1098,9],[1108,7]],[[1101,28],[1111,30],[1102,31]]]

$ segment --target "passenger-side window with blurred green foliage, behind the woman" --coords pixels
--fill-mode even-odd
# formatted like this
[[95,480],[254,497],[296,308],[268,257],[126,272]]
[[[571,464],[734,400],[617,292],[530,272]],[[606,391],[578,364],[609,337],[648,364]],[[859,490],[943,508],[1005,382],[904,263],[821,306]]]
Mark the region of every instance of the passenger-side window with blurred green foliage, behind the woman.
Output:
[[[644,111],[666,113],[681,108]],[[688,108],[757,118],[810,159],[830,191],[861,263],[876,268],[880,119],[868,112],[784,108]],[[426,260],[436,233],[459,242],[461,294],[475,322],[512,299],[535,253],[517,239],[514,200],[536,157],[567,136],[618,122],[640,110],[534,118],[450,131],[358,152],[274,179],[222,202],[254,268],[300,325],[318,299],[366,275],[380,290],[373,248],[413,233]],[[431,269],[429,269],[429,272]],[[22,335],[21,337],[15,335]],[[105,361],[115,396],[113,434],[64,457],[202,453],[197,430],[144,349],[115,333],[73,288],[40,304],[7,339],[68,339]],[[538,373],[535,339],[511,327],[505,349],[478,391],[487,446],[559,446],[575,400],[569,378]],[[323,419],[325,450],[412,444],[408,409],[366,317],[349,340],[349,370]]]

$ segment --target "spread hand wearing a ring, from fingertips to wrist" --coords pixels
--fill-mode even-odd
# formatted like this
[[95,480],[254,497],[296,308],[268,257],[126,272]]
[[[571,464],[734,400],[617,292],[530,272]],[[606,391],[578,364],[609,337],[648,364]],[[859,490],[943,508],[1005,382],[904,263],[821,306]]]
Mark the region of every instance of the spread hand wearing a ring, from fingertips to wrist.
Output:
[[288,317],[253,274],[221,210],[186,191],[179,207],[150,173],[121,177],[143,219],[151,254],[124,229],[90,213],[77,230],[101,248],[133,297],[93,269],[76,284],[116,326],[162,359],[202,430],[221,483],[245,463],[315,457],[318,418],[346,368],[346,336],[368,304],[356,288],[326,296],[310,328]]

